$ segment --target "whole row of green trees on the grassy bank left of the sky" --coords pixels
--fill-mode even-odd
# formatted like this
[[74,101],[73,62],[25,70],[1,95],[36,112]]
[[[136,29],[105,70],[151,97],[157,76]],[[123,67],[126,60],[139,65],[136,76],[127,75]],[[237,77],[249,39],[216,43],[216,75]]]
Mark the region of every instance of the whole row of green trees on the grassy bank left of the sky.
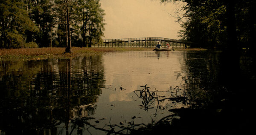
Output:
[[100,6],[99,0],[0,0],[0,48],[91,47],[102,42]]

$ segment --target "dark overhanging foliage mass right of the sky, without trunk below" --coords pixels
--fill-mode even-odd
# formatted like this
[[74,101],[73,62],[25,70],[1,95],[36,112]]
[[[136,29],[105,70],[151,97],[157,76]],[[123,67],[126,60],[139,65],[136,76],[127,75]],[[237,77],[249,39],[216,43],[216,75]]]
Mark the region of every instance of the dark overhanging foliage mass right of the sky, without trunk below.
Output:
[[[195,47],[253,47],[256,39],[255,0],[161,0],[182,1],[184,14],[176,16],[183,27],[180,36]],[[229,40],[230,39],[230,40]]]

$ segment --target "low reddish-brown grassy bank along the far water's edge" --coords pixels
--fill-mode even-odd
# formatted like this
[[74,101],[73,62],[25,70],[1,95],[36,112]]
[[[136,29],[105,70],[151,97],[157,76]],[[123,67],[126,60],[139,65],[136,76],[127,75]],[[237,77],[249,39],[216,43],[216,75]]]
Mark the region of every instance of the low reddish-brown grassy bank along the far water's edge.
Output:
[[[64,54],[65,48],[23,48],[0,49],[0,61],[7,60],[41,60],[48,58],[76,57],[104,52],[152,51],[154,48],[80,48],[72,47],[73,54]],[[175,49],[175,51],[201,51],[205,49]]]

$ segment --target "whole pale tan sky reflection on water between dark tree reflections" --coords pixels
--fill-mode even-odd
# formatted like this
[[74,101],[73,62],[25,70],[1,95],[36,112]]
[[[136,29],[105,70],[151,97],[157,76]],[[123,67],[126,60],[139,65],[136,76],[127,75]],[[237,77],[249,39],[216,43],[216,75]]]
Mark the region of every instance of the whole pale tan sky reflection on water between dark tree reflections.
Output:
[[[180,108],[181,103],[173,104],[165,100],[160,103],[164,110],[157,109],[157,101],[149,103],[153,109],[144,110],[140,107],[143,99],[135,95],[134,90],[142,90],[140,86],[147,84],[150,91],[157,90],[157,95],[170,97],[170,86],[180,85],[184,65],[182,52],[111,52],[103,55],[105,88],[96,103],[96,110],[93,117],[108,118],[97,124],[104,126],[119,124],[120,121],[131,121],[136,116],[136,124],[150,123],[151,118],[155,121],[166,115],[172,114],[169,109]],[[120,90],[120,87],[124,90]],[[157,112],[156,112],[157,111]],[[156,117],[154,114],[157,114]],[[138,118],[139,117],[139,118]],[[141,118],[140,118],[141,117]],[[127,123],[126,123],[127,124]]]

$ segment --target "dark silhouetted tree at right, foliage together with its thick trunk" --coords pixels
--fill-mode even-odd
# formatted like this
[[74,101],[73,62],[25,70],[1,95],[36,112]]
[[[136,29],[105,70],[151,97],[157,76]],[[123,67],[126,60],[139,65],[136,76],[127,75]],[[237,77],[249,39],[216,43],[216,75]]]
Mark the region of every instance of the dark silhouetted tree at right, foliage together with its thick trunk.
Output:
[[[161,0],[182,1],[185,11],[177,21],[182,23],[182,36],[200,47],[221,46],[221,82],[232,91],[239,89],[242,48],[248,48],[253,63],[256,62],[255,0]],[[207,46],[205,46],[205,44]],[[211,47],[211,48],[212,48]],[[256,65],[256,64],[253,64]],[[254,66],[255,68],[255,66]],[[253,69],[254,69],[253,68]]]

